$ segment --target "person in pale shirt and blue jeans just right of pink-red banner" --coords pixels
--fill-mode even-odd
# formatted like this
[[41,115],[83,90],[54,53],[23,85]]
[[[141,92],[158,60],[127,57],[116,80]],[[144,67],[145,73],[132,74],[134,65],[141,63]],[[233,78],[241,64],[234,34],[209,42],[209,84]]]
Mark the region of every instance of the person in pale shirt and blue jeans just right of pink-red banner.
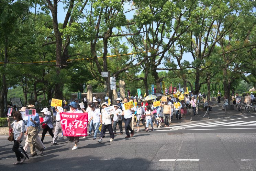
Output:
[[99,126],[102,123],[102,116],[100,114],[100,110],[96,109],[96,106],[94,104],[91,105],[91,118],[88,123],[90,124],[91,121],[93,122],[93,126],[95,128],[94,137],[92,140],[96,140],[97,133],[100,134]]

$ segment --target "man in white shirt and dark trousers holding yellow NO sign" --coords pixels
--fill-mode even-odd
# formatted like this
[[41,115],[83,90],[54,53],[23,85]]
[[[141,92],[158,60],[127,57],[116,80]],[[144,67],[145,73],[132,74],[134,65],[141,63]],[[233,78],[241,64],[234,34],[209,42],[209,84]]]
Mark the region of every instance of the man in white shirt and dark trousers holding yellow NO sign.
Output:
[[[124,97],[124,103],[127,103],[127,102],[128,102],[127,97]],[[123,108],[122,115],[124,115],[125,133],[126,133],[125,138],[130,138],[130,137],[133,137],[134,135],[134,130],[132,130],[130,123],[132,121],[132,113],[134,113],[135,111],[132,108],[125,110],[124,104],[122,108]],[[129,130],[131,131],[131,136],[130,136]]]

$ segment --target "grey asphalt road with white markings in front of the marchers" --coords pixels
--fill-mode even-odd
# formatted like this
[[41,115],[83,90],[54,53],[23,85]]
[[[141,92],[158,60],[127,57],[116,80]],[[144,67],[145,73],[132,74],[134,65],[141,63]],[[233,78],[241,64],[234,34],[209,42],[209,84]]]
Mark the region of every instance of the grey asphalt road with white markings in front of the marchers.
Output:
[[117,135],[111,143],[109,134],[102,144],[89,136],[80,138],[77,150],[67,139],[51,146],[47,136],[44,154],[17,166],[12,143],[1,138],[0,170],[256,170],[255,131],[253,116],[158,128],[129,139]]

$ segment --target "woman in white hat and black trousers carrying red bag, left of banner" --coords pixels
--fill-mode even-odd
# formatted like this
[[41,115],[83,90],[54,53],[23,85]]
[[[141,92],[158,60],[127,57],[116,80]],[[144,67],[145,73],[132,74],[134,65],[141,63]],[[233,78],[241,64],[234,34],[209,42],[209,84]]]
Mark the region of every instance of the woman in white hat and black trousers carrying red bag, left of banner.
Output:
[[41,141],[44,142],[44,136],[47,131],[49,132],[49,134],[52,137],[54,137],[53,122],[52,122],[52,118],[51,118],[52,113],[49,111],[49,109],[47,107],[43,108],[43,110],[41,112],[43,113],[43,117],[44,117],[44,121],[40,123],[43,128]]

